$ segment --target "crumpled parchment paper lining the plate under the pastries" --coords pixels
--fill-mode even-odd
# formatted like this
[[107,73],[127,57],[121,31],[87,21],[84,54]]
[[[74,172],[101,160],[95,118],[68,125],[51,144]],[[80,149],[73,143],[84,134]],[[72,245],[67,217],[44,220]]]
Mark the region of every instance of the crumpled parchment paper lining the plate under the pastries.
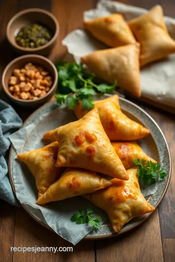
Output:
[[[42,136],[46,131],[75,120],[76,117],[74,113],[65,106],[57,107],[49,113],[43,113],[43,111],[41,111],[32,124],[13,133],[10,139],[17,153],[30,151],[43,147],[46,143],[49,143],[42,140]],[[140,146],[148,155],[155,158],[146,139],[147,138],[139,140]],[[103,210],[83,197],[72,197],[44,206],[37,205],[37,189],[33,175],[24,163],[18,161],[17,157],[15,157],[12,164],[12,177],[15,184],[16,195],[20,203],[33,207],[34,214],[40,212],[41,214],[39,214],[39,216],[42,217],[42,220],[44,220],[58,235],[70,241],[73,245],[77,244],[93,229],[88,224],[76,225],[70,221],[70,217],[78,209],[92,208],[96,216],[102,216],[103,221],[101,224],[108,218]],[[147,187],[146,189],[141,189],[145,197],[154,194],[156,190],[157,184]]]

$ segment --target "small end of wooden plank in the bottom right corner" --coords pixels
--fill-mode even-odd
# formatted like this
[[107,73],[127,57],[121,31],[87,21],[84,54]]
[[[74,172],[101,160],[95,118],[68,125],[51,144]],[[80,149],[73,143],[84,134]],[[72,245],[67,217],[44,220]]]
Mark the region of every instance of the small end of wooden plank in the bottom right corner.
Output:
[[163,239],[164,262],[175,262],[175,239]]

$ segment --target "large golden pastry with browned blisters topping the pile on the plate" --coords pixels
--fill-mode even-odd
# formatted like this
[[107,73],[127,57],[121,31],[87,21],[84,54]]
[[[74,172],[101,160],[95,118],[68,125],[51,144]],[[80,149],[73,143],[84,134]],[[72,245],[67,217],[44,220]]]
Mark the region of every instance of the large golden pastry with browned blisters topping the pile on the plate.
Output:
[[47,132],[58,141],[56,166],[79,167],[127,180],[124,166],[112,147],[95,108],[81,119]]

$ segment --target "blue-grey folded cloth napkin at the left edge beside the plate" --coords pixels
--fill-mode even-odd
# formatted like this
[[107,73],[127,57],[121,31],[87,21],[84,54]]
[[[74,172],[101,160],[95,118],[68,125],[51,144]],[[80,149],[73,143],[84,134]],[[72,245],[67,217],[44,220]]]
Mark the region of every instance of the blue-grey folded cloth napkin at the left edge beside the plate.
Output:
[[19,206],[13,193],[8,175],[8,149],[11,145],[9,135],[17,131],[22,120],[15,110],[0,100],[0,198]]

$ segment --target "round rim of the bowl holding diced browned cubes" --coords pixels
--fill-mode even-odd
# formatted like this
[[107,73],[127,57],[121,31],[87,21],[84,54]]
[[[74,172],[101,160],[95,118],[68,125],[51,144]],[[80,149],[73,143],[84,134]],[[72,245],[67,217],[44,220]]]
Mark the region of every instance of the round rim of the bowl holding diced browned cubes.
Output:
[[[6,85],[5,85],[5,82],[4,82],[4,79],[5,79],[5,75],[6,75],[7,70],[8,70],[12,65],[14,65],[16,62],[18,62],[18,61],[20,61],[20,60],[22,60],[23,58],[26,58],[26,57],[28,57],[29,60],[30,60],[30,58],[34,58],[34,57],[39,58],[39,59],[42,59],[42,60],[44,60],[45,62],[47,62],[50,66],[52,66],[53,71],[54,71],[54,81],[53,81],[53,85],[52,85],[51,89],[49,90],[49,92],[48,92],[45,96],[43,96],[43,97],[41,97],[41,98],[38,98],[37,100],[23,100],[23,99],[15,98],[15,97],[10,93],[10,91],[6,88]],[[29,62],[30,62],[30,61],[29,61]],[[46,57],[44,57],[44,56],[42,56],[42,55],[37,55],[37,54],[21,55],[21,56],[15,58],[15,59],[13,59],[7,66],[5,66],[5,68],[4,68],[4,70],[3,70],[3,73],[2,73],[2,80],[1,80],[2,87],[3,87],[3,90],[4,90],[4,92],[6,93],[6,95],[9,96],[10,98],[14,99],[14,100],[17,100],[17,101],[20,101],[20,102],[23,102],[23,103],[34,103],[34,102],[36,102],[36,101],[40,101],[40,100],[42,100],[43,98],[48,97],[48,96],[52,93],[53,89],[56,87],[57,82],[58,82],[58,74],[57,74],[57,70],[56,70],[56,67],[54,66],[53,62],[52,62],[51,60],[49,60],[48,58],[46,58]]]

